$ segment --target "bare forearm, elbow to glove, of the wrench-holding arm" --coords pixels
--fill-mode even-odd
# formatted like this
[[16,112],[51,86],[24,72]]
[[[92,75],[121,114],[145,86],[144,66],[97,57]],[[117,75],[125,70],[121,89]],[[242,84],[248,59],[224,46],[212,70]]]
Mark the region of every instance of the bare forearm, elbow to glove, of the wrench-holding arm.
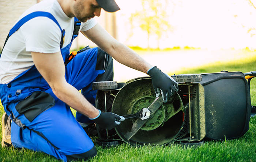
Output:
[[58,85],[52,89],[57,98],[81,114],[86,115],[89,118],[95,118],[99,114],[99,111],[89,101],[87,101],[86,98],[84,98],[84,96],[75,87],[71,86],[70,84],[65,83],[64,85]]

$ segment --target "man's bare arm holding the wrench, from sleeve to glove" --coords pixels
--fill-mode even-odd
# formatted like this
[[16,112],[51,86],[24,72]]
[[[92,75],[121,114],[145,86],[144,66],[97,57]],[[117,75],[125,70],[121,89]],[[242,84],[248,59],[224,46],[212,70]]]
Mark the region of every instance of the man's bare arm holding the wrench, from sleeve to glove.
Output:
[[53,54],[31,52],[31,54],[35,67],[57,98],[89,118],[98,116],[99,110],[88,102],[75,87],[67,83],[65,66],[60,52]]

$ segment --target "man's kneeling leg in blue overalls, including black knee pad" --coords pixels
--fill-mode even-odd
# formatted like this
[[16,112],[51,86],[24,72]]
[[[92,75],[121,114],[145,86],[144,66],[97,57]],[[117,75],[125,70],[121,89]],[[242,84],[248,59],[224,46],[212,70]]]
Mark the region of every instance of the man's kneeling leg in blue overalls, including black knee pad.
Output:
[[[51,89],[46,92],[54,96]],[[12,122],[12,144],[43,151],[63,161],[94,157],[97,154],[94,144],[70,108],[61,100],[54,99],[55,105],[34,118],[25,129]]]

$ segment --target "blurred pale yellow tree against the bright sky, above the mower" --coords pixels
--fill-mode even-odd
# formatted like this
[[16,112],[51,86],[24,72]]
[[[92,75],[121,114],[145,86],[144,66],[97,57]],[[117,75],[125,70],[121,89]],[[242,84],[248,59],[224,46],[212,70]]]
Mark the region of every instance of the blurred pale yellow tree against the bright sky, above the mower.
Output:
[[166,2],[166,0],[141,0],[142,10],[131,14],[131,24],[138,23],[139,27],[147,32],[148,48],[151,35],[157,35],[159,48],[162,35],[171,30],[171,25],[167,20]]

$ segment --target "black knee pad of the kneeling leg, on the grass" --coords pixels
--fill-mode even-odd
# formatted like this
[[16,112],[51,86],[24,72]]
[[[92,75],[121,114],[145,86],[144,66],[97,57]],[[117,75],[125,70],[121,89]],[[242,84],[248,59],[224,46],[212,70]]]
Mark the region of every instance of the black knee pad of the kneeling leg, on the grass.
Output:
[[72,160],[81,160],[83,159],[84,161],[87,161],[90,158],[93,158],[97,155],[97,150],[96,147],[93,146],[93,148],[89,151],[86,151],[85,153],[82,154],[74,154],[74,155],[66,155],[67,161],[72,161]]

